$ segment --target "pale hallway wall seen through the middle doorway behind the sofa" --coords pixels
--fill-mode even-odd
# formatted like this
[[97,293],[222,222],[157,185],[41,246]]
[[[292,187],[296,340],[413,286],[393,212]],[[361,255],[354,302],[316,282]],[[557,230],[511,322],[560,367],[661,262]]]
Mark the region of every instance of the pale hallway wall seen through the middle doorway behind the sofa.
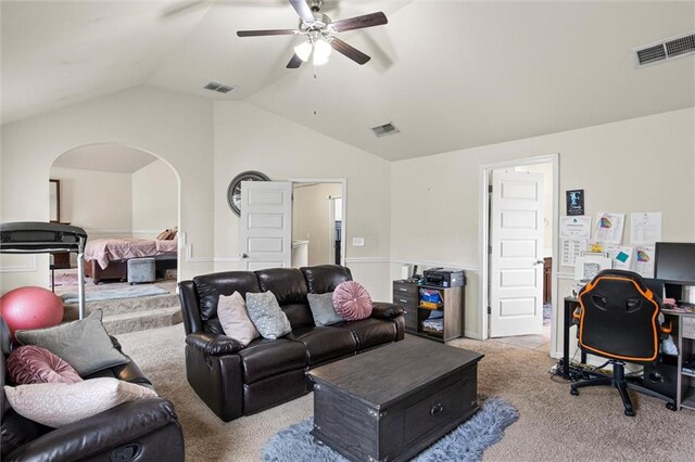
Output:
[[[316,183],[295,185],[292,201],[292,239],[308,241],[308,265],[336,260],[331,241],[330,197],[339,197],[342,185]],[[334,226],[333,226],[334,228]]]

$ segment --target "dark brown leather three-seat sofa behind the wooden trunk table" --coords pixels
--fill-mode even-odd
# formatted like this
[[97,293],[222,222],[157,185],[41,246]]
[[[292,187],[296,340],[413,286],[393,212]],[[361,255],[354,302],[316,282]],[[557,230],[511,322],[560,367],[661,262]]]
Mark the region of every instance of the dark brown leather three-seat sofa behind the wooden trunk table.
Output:
[[[306,372],[341,358],[403,339],[403,308],[376,303],[371,317],[316,326],[306,294],[332,292],[352,280],[336,265],[228,271],[179,283],[186,329],[186,372],[198,396],[225,422],[263,411],[313,389]],[[245,348],[224,334],[217,319],[219,295],[270,291],[292,332]]]

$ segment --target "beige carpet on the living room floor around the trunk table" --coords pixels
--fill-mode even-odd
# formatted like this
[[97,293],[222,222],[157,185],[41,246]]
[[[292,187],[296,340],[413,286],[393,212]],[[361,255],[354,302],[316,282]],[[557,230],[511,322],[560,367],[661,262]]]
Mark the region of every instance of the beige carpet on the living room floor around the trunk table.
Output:
[[[184,426],[187,460],[258,461],[263,444],[276,432],[312,415],[312,395],[229,423],[203,405],[186,381],[182,324],[118,336],[170,399]],[[479,392],[511,402],[520,413],[503,440],[484,453],[486,461],[693,461],[695,412],[672,412],[662,401],[633,395],[637,415],[622,414],[615,389],[597,387],[570,396],[554,382],[553,360],[541,351],[496,342],[454,341],[452,345],[485,355]],[[437,360],[432,358],[432,360]]]

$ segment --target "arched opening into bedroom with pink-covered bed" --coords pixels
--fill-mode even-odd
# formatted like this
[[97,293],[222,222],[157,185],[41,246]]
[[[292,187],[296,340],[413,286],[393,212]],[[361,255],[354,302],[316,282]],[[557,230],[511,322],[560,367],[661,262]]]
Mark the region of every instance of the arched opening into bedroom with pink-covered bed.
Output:
[[[129,280],[127,260],[136,257],[155,258],[155,279],[177,279],[178,236],[175,231],[180,215],[180,180],[166,161],[134,146],[89,144],[58,156],[50,168],[49,180],[58,192],[51,194],[51,200],[60,198],[60,203],[51,204],[52,214],[56,210],[54,217],[87,231],[86,273],[91,282]],[[94,256],[90,242],[110,240],[147,240],[151,244],[138,243],[132,252],[119,246],[118,252],[123,251],[123,254],[104,244],[104,255]],[[70,258],[70,255],[54,255],[51,268],[74,267],[74,262],[65,261],[65,257]]]

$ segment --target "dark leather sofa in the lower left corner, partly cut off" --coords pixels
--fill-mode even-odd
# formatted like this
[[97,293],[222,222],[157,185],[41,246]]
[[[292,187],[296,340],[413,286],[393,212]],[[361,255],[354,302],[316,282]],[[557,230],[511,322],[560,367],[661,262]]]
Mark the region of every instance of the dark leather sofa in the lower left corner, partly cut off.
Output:
[[[10,331],[0,318],[2,367],[0,385],[5,384],[5,359],[10,352]],[[121,349],[112,337],[114,346]],[[115,377],[152,388],[138,364],[130,361],[84,377]],[[0,390],[0,433],[3,462],[11,461],[184,461],[184,434],[174,406],[164,398],[125,402],[81,421],[51,428],[17,414]]]

